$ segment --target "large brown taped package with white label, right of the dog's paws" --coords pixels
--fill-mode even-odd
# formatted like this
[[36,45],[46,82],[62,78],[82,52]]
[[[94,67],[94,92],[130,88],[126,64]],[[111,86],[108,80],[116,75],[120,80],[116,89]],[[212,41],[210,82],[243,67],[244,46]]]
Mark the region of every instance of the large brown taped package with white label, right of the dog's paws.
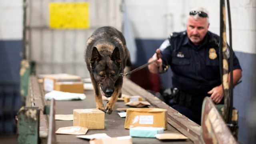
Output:
[[161,108],[128,108],[124,128],[151,126],[167,129],[167,110]]

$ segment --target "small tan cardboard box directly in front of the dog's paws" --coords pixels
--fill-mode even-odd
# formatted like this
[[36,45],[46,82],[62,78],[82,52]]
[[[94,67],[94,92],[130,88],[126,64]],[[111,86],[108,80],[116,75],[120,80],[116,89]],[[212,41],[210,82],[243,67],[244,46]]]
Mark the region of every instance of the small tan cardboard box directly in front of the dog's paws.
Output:
[[82,126],[88,129],[105,128],[105,113],[99,109],[75,109],[73,117],[73,126]]

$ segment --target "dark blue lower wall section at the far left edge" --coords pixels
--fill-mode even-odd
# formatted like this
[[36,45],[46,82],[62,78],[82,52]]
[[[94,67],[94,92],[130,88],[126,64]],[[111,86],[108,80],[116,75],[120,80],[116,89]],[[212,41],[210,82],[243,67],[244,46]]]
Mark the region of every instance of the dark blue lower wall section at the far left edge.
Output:
[[16,134],[15,116],[21,107],[21,40],[0,40],[0,135]]

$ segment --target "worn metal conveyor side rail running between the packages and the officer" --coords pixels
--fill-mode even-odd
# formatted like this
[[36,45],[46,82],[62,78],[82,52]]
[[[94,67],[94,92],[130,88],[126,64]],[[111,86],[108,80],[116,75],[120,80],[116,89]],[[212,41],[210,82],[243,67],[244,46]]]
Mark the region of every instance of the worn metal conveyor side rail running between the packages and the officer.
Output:
[[168,106],[162,100],[144,90],[134,82],[124,78],[123,91],[129,92],[130,95],[140,95],[145,98],[153,107],[164,108],[168,112],[168,123],[190,138],[194,143],[203,143],[201,140],[201,126],[180,114],[172,107]]

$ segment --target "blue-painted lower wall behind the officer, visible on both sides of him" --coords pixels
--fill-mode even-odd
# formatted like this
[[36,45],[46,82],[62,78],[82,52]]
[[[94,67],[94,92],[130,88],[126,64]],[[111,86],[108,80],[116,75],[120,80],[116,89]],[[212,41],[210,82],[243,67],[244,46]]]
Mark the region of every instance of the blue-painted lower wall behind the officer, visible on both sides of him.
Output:
[[[145,64],[148,59],[154,54],[156,48],[158,48],[164,40],[153,40],[153,39],[136,39],[136,45],[138,48],[137,62],[133,64],[134,68]],[[251,144],[256,141],[256,123],[249,124],[248,119],[254,116],[256,121],[255,110],[249,111],[250,105],[255,104],[256,97],[256,54],[248,54],[244,52],[235,52],[236,56],[240,61],[242,67],[242,83],[238,84],[234,88],[234,107],[238,109],[238,141]],[[145,77],[145,70],[138,73],[136,81],[148,82],[149,77]],[[162,89],[171,87],[172,73],[169,69],[168,72],[160,74],[160,84]],[[138,80],[138,78],[141,78]],[[139,83],[138,83],[139,84]],[[140,84],[139,84],[140,85]],[[143,87],[143,86],[142,86]],[[250,113],[253,112],[253,113]],[[254,121],[254,122],[255,122]]]

